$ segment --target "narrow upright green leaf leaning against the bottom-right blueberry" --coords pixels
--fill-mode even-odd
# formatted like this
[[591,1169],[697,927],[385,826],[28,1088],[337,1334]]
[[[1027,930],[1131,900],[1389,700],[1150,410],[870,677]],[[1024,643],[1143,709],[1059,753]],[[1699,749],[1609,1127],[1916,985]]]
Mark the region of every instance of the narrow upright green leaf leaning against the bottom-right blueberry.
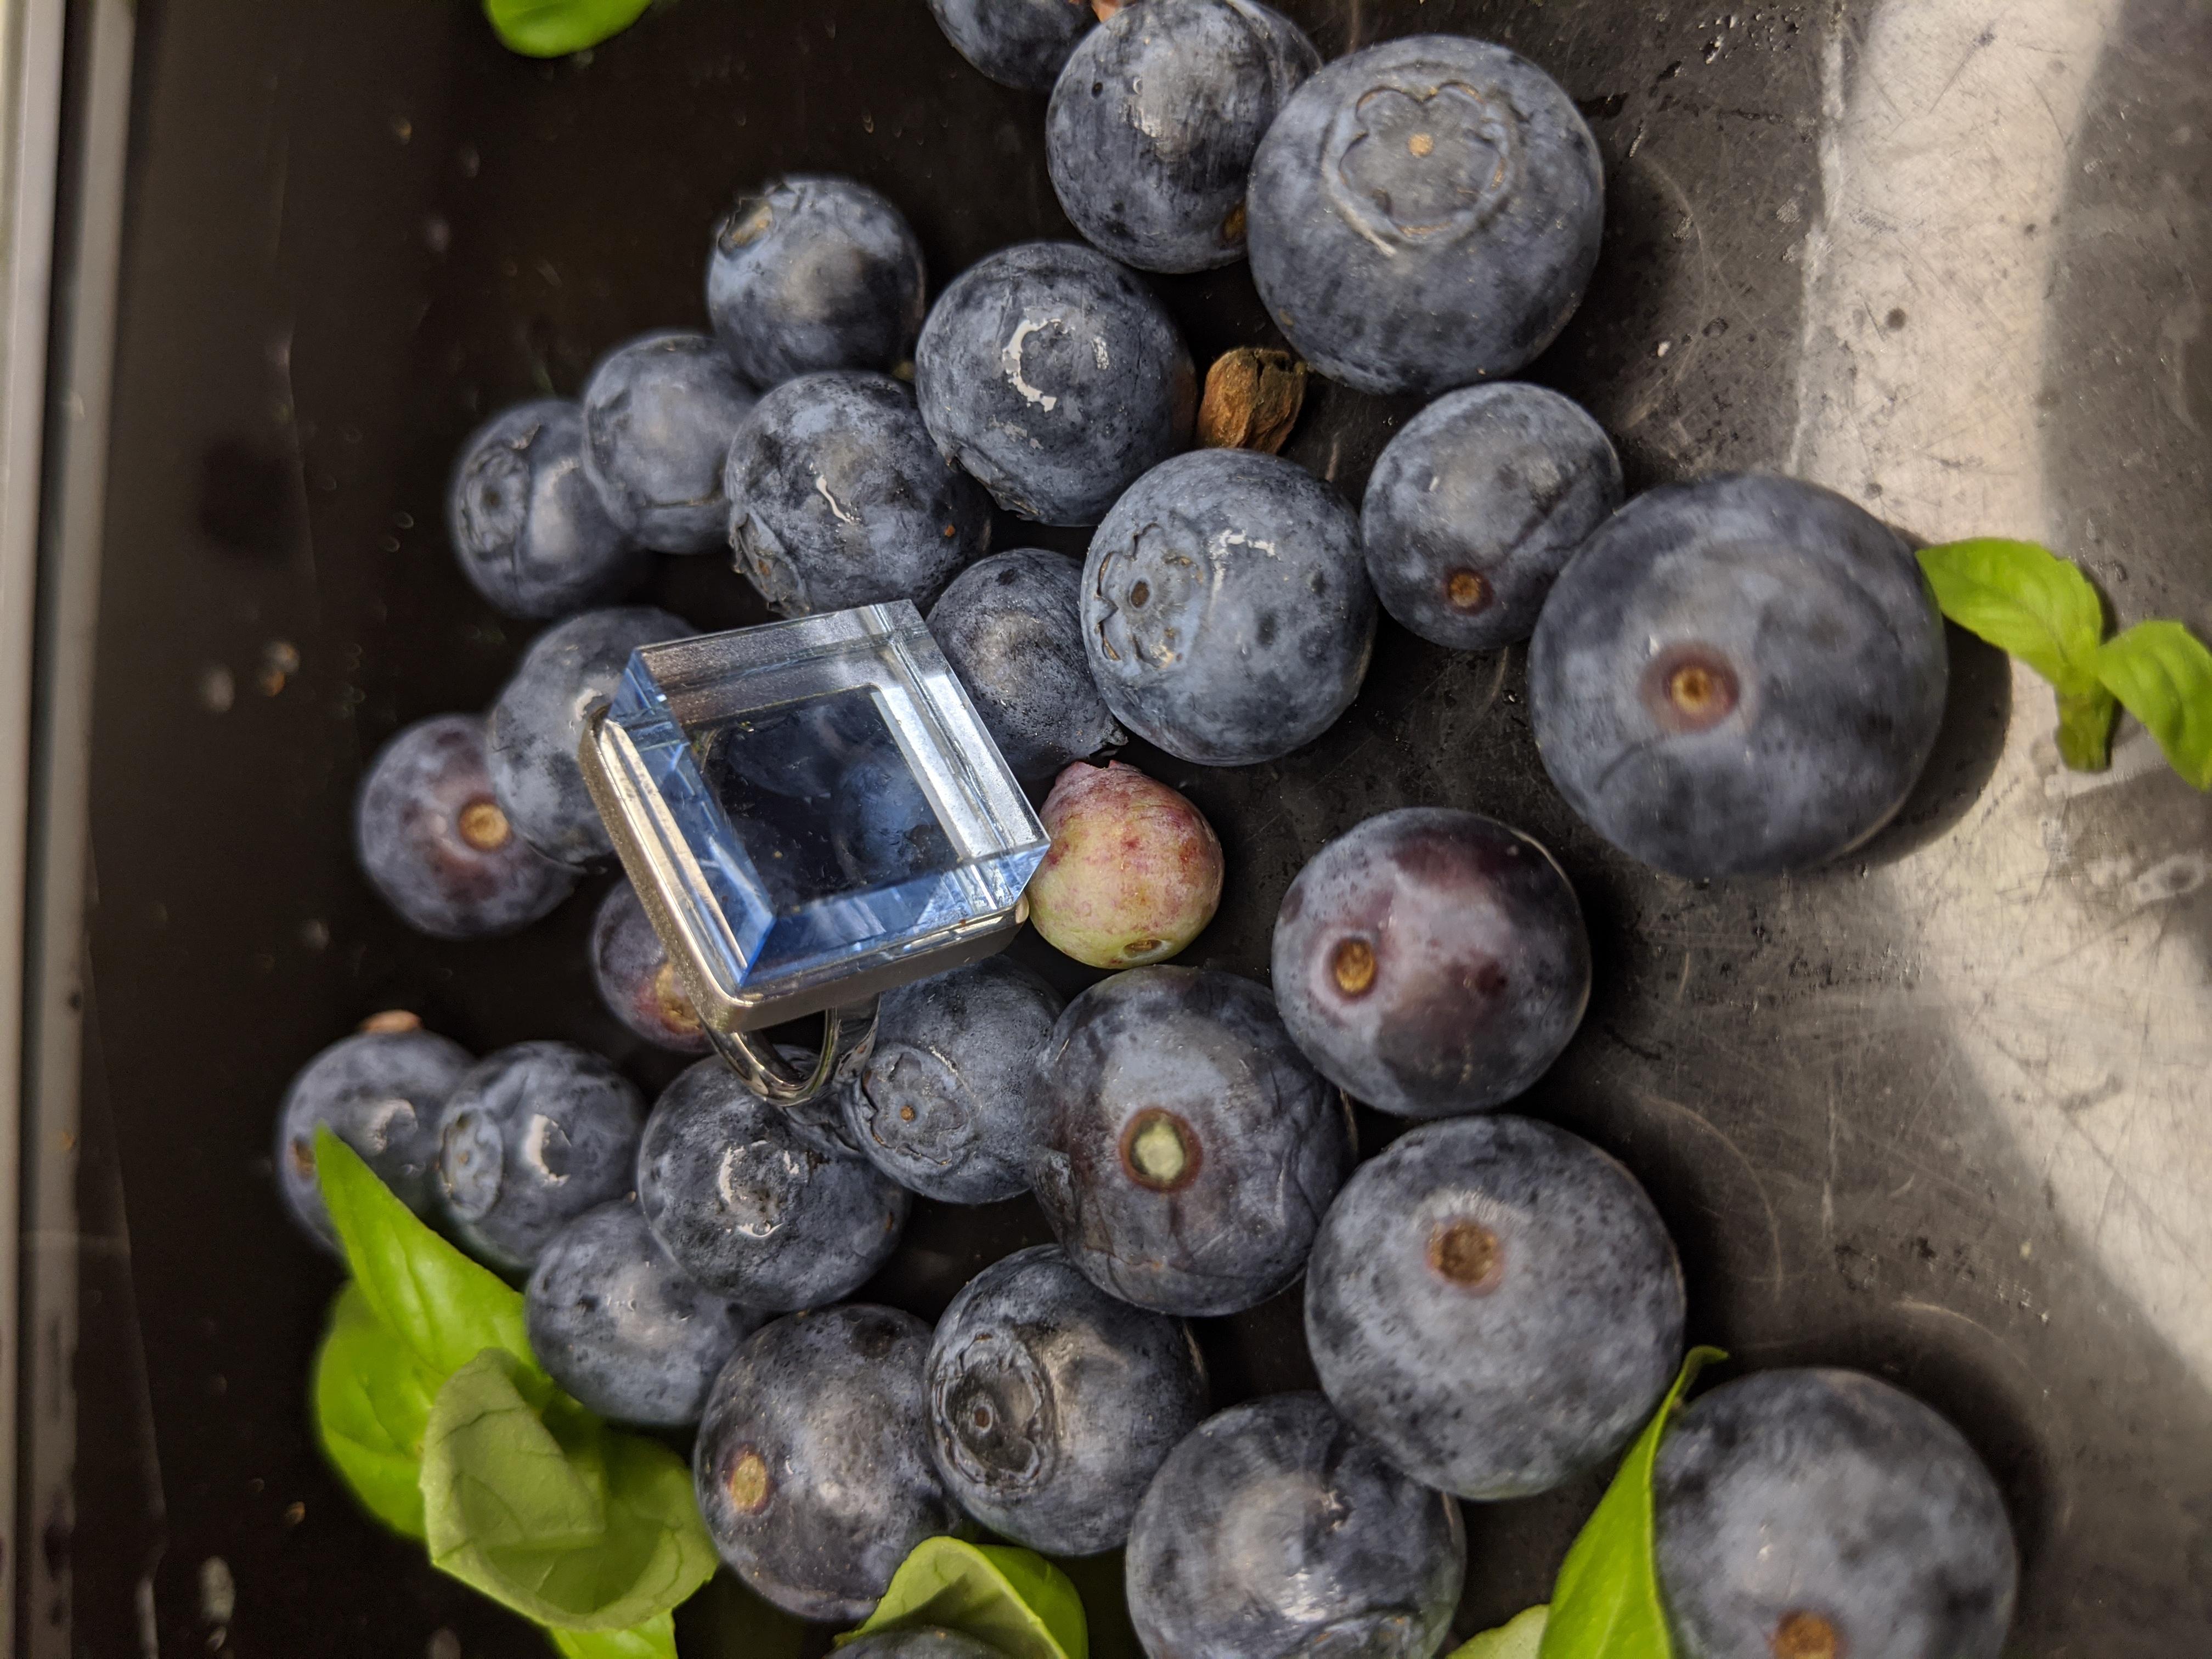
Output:
[[1672,1659],[1674,1639],[1652,1564],[1652,1460],[1681,1391],[1705,1365],[1728,1358],[1692,1347],[1644,1433],[1628,1447],[1613,1484],[1584,1524],[1551,1593],[1542,1659]]

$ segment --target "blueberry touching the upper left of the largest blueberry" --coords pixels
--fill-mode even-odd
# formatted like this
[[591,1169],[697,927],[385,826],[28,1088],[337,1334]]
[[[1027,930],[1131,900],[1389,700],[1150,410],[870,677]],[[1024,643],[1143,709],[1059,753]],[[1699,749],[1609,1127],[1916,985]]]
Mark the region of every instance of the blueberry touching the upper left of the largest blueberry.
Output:
[[1544,595],[1621,504],[1621,462],[1582,405],[1506,380],[1449,392],[1385,445],[1360,507],[1376,597],[1453,650],[1535,630]]

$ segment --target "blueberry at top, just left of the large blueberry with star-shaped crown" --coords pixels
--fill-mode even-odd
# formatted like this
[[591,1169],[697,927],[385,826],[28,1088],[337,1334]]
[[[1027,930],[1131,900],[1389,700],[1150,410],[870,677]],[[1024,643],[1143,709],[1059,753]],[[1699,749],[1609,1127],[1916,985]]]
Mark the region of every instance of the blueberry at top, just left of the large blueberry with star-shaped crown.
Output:
[[1305,31],[1259,0],[1124,7],[1053,86],[1044,161],[1060,206],[1137,270],[1237,263],[1252,153],[1316,69]]

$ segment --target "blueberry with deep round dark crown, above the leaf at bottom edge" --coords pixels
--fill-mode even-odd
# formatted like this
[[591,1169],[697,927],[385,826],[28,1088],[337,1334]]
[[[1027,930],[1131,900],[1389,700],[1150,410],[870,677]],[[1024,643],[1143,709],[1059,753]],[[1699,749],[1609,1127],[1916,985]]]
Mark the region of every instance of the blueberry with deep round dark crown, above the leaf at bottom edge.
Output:
[[960,1506],[1046,1555],[1119,1548],[1206,1416],[1188,1327],[1108,1296],[1057,1245],[975,1274],[929,1347],[929,1447]]

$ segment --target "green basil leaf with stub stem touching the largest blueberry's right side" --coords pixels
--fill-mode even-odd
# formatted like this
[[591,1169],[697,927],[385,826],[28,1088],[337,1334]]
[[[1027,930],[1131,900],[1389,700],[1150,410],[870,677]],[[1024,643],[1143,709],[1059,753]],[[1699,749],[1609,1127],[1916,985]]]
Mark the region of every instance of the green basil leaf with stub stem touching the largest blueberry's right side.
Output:
[[2112,695],[2097,677],[2104,602],[2079,566],[2035,542],[1982,538],[1920,551],[1936,604],[1966,633],[2020,657],[2059,697],[2059,759],[2110,765]]

